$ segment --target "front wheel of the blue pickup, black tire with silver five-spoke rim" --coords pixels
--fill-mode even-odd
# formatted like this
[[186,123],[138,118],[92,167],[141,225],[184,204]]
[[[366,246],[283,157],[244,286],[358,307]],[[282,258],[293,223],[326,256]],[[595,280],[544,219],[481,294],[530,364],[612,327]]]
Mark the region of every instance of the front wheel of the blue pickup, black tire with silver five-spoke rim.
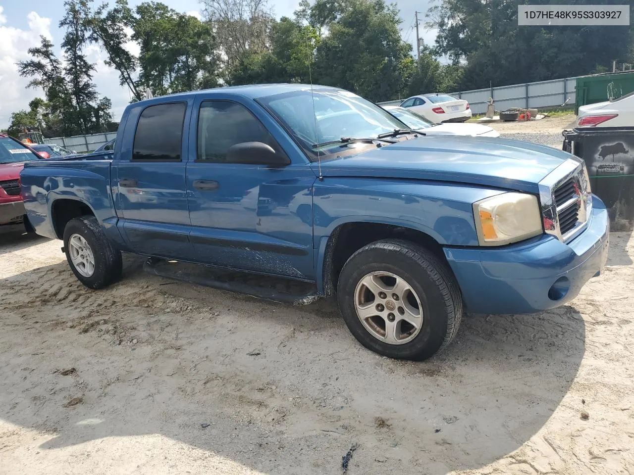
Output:
[[417,244],[385,239],[344,265],[339,308],[361,345],[390,358],[425,360],[451,343],[462,295],[450,269]]

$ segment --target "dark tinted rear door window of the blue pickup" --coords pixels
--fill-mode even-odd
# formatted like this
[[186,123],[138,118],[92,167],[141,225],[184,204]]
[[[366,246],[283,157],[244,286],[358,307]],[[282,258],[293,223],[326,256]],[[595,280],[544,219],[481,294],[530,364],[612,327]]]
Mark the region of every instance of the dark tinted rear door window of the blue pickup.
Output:
[[134,135],[133,160],[150,162],[181,160],[185,103],[145,108]]

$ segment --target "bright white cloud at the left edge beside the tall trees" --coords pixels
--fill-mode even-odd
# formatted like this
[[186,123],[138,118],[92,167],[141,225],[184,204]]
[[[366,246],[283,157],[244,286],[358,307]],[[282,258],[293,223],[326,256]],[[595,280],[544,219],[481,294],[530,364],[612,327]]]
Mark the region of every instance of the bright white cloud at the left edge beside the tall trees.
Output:
[[29,57],[27,49],[40,44],[40,35],[51,38],[51,20],[42,18],[32,11],[27,15],[29,29],[7,27],[8,18],[0,6],[0,127],[9,125],[11,113],[28,108],[31,99],[42,95],[42,91],[25,89],[29,79],[20,77],[17,61],[26,60]]

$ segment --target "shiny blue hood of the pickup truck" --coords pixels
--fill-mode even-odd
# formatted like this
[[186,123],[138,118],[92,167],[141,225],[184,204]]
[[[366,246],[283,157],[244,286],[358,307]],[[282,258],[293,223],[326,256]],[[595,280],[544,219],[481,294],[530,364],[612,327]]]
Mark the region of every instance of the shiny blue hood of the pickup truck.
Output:
[[[367,145],[364,145],[365,147]],[[538,193],[538,183],[573,155],[492,137],[426,136],[323,160],[324,177],[384,177],[460,182]],[[318,163],[312,164],[318,172]]]

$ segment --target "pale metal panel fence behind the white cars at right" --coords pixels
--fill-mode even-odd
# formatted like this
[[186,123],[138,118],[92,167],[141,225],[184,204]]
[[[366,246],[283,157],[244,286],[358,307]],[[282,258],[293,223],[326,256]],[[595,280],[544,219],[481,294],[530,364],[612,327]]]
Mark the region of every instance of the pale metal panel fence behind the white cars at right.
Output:
[[[557,107],[564,104],[568,98],[570,100],[567,106],[574,106],[576,81],[576,77],[569,77],[567,79],[487,87],[486,89],[475,89],[474,91],[451,92],[450,94],[469,101],[474,114],[486,113],[486,103],[489,98],[493,98],[493,101],[495,101],[496,110],[506,110],[511,107],[525,109]],[[379,104],[399,105],[403,100],[387,101]]]

